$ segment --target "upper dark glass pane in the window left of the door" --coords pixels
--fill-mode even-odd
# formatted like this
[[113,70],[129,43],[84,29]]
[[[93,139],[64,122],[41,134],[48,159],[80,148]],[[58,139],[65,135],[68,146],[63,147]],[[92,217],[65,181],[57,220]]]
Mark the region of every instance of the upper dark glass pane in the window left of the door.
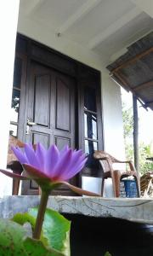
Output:
[[14,61],[14,87],[20,88],[20,81],[22,75],[22,60],[15,58]]

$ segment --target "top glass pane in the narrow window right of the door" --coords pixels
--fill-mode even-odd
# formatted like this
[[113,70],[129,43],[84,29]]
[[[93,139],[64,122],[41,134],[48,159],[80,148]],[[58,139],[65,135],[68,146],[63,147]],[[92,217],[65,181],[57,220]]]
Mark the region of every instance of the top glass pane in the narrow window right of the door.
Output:
[[84,108],[96,112],[96,93],[94,88],[84,88]]

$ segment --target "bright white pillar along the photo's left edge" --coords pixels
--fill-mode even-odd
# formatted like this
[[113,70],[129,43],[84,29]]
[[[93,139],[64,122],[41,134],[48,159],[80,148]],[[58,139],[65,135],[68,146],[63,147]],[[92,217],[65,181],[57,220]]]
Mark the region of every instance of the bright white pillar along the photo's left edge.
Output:
[[[0,167],[5,168],[20,0],[0,0]],[[12,179],[0,175],[0,197],[11,195]]]

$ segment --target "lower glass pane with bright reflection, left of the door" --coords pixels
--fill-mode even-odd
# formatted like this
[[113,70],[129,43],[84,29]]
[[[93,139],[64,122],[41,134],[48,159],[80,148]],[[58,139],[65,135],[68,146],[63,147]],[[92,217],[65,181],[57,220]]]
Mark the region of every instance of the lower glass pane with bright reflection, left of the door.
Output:
[[20,108],[20,90],[13,90],[12,106],[11,106],[11,121],[18,122]]

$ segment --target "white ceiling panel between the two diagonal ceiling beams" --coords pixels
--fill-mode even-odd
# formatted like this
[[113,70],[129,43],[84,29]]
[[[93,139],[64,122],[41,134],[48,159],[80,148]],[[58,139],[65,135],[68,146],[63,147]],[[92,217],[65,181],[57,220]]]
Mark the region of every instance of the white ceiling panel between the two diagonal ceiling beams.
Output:
[[65,34],[79,43],[86,44],[88,40],[133,9],[133,6],[133,3],[127,0],[101,0],[88,15],[78,20]]

